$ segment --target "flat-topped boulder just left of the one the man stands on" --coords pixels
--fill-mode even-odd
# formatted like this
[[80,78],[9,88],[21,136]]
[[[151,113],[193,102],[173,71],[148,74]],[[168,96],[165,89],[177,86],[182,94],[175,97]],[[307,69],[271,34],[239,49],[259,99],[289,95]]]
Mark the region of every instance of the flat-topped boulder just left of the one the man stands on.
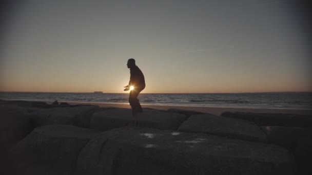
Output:
[[30,113],[35,127],[50,124],[70,124],[90,127],[90,117],[99,106],[55,107]]

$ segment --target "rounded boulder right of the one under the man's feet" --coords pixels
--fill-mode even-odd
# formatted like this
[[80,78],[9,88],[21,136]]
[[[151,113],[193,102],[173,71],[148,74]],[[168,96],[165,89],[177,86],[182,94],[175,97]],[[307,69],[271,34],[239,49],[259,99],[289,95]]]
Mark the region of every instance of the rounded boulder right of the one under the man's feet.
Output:
[[206,133],[233,139],[267,142],[259,126],[249,121],[212,114],[192,115],[178,129],[181,132]]

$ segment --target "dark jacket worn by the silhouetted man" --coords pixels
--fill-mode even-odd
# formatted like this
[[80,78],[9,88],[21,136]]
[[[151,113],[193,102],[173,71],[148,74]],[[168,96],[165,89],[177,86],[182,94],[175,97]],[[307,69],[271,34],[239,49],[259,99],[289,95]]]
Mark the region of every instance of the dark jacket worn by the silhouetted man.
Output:
[[133,68],[130,68],[129,85],[133,85],[134,87],[137,87],[140,89],[145,88],[144,75],[137,65],[134,65]]

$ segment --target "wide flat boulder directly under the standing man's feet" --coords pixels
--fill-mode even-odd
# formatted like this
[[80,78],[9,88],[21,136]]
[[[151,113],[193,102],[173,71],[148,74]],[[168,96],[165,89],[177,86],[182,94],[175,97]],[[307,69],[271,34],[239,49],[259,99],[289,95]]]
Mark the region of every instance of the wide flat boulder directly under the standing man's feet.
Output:
[[93,113],[91,128],[101,131],[135,125],[158,129],[177,129],[186,116],[158,110],[144,109],[143,113],[132,116],[131,109],[118,108]]

